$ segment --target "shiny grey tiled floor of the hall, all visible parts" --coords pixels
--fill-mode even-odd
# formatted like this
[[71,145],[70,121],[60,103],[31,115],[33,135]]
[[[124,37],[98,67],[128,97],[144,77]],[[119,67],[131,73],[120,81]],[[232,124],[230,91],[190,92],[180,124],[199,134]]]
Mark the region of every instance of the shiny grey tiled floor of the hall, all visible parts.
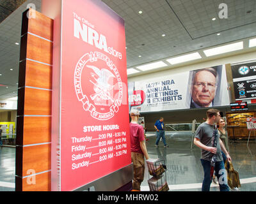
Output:
[[[203,168],[200,163],[200,149],[192,145],[191,133],[167,132],[166,142],[170,147],[155,147],[155,133],[147,133],[147,150],[151,158],[164,159],[167,183],[170,191],[201,191]],[[240,191],[256,191],[256,143],[254,138],[230,142],[230,156],[235,170],[239,172]],[[147,165],[146,165],[147,166]],[[15,191],[15,148],[0,148],[0,191]],[[142,191],[148,191],[148,170],[141,184]],[[218,185],[211,185],[211,191],[219,191]]]

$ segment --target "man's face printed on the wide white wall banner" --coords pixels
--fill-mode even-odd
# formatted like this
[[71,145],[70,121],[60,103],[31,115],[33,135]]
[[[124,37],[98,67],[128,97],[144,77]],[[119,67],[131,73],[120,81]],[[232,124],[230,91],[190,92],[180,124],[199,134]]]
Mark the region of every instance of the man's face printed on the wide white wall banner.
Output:
[[216,77],[209,71],[198,71],[194,77],[192,99],[202,107],[211,105],[216,91]]

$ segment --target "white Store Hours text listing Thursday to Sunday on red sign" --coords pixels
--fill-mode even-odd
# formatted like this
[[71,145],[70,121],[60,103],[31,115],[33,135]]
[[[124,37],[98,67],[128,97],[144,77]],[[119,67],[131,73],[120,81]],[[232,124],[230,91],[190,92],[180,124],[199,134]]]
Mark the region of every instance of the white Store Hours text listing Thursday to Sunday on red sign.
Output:
[[72,170],[127,154],[127,132],[118,125],[84,126],[83,132],[86,136],[70,138]]

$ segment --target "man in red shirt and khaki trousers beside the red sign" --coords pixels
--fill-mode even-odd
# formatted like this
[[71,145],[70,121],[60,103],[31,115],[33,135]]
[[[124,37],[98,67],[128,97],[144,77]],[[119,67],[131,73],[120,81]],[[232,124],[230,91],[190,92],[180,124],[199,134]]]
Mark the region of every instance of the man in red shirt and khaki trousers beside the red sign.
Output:
[[133,182],[132,189],[140,191],[141,182],[144,179],[145,161],[149,159],[145,145],[143,126],[138,124],[140,112],[131,110],[130,137],[131,137],[131,156],[133,163]]

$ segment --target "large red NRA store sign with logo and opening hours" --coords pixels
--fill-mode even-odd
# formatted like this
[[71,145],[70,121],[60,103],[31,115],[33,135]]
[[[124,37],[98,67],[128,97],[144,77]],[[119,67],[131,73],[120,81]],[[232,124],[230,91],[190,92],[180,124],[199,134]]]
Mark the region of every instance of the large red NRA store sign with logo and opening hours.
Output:
[[58,173],[71,191],[131,164],[124,20],[102,1],[65,0],[61,35]]

